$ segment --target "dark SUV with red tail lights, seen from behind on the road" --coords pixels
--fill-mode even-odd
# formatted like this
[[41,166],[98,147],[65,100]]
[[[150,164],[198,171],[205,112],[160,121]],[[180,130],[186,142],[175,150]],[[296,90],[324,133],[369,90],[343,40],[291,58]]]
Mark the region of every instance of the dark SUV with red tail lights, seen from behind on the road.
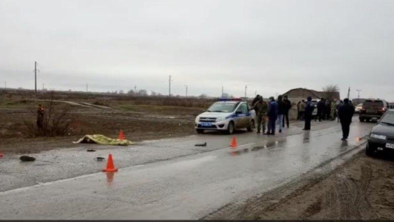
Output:
[[389,109],[389,103],[385,100],[365,100],[362,104],[358,118],[360,119],[360,122],[364,122],[365,120],[369,121],[372,118],[380,119],[380,117],[382,117],[382,115]]

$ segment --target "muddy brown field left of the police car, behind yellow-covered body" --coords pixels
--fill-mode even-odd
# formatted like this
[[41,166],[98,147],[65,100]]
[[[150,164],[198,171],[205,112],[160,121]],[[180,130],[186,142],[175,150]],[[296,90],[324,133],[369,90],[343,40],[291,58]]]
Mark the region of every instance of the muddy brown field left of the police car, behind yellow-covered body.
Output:
[[[0,98],[0,152],[36,153],[55,148],[75,147],[72,141],[86,134],[117,138],[122,129],[127,139],[138,142],[186,136],[195,133],[194,120],[204,108],[135,105],[116,100],[74,100],[53,103],[57,111],[68,109],[70,127],[65,135],[35,136],[36,109],[48,101],[18,96]],[[66,103],[67,102],[67,103]],[[83,104],[85,103],[85,104]],[[86,103],[90,105],[86,105]],[[96,105],[95,105],[96,104]],[[101,106],[101,107],[100,107]]]

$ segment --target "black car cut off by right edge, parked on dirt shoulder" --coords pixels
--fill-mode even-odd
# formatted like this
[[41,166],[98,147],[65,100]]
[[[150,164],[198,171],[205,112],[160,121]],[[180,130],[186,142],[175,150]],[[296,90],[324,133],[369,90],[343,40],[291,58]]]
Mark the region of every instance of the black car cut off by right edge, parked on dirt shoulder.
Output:
[[369,134],[365,152],[371,156],[376,151],[394,154],[394,110],[387,111]]

